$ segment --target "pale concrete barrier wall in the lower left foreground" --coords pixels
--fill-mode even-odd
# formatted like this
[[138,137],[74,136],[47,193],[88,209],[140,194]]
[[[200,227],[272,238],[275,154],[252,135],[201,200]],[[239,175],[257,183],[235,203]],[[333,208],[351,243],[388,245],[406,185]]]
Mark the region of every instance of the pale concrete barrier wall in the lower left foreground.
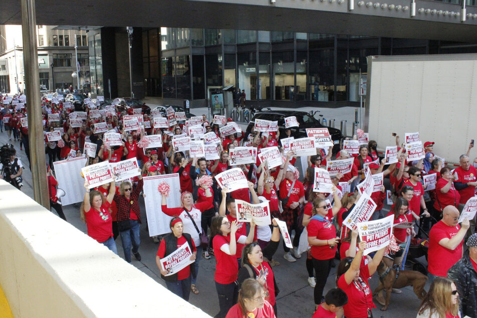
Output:
[[209,317],[3,180],[0,284],[16,317]]

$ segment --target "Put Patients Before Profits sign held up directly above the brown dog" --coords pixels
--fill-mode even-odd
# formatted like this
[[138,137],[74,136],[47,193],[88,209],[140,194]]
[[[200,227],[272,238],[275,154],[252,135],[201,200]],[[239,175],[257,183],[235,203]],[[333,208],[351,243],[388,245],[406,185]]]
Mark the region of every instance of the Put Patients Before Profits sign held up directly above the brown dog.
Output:
[[389,245],[391,240],[394,216],[390,215],[376,221],[358,223],[358,233],[361,241],[366,242],[363,255],[378,251]]

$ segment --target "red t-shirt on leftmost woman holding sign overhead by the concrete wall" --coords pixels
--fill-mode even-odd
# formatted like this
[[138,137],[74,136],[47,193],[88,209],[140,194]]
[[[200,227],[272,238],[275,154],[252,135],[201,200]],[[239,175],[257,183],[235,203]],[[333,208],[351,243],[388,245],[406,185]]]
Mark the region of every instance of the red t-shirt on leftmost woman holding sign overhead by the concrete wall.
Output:
[[89,211],[85,211],[84,214],[86,218],[86,227],[88,228],[88,235],[99,243],[107,241],[113,236],[113,220],[108,212],[109,205],[109,202],[103,202],[100,212],[91,207]]

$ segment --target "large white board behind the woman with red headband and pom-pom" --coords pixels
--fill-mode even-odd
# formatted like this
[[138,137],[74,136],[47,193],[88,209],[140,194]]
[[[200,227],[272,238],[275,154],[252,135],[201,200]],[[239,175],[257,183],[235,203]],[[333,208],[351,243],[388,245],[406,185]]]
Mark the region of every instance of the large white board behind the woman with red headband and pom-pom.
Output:
[[143,180],[144,205],[149,236],[171,233],[169,221],[171,221],[172,217],[163,213],[161,204],[157,204],[157,201],[161,200],[161,194],[157,192],[157,187],[160,183],[166,182],[171,187],[169,197],[167,198],[168,206],[180,207],[181,183],[179,182],[179,174],[149,176],[144,177]]

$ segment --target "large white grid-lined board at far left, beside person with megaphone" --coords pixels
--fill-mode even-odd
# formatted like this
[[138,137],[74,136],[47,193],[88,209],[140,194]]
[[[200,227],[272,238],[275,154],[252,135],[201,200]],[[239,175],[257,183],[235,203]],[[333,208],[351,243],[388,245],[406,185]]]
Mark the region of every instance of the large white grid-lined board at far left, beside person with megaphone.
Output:
[[61,205],[83,202],[86,190],[84,189],[84,179],[79,172],[85,164],[84,156],[53,163],[58,188],[66,190],[65,196],[60,199]]

